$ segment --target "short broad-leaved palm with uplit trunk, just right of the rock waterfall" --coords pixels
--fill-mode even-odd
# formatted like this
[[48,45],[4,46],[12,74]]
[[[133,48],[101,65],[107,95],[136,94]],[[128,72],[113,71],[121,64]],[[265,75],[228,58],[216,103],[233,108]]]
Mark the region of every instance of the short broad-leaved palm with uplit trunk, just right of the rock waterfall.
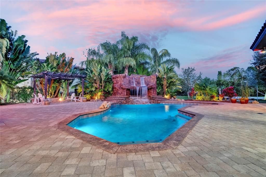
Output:
[[174,73],[174,66],[169,67],[165,64],[162,64],[158,71],[158,77],[163,83],[163,95],[166,94],[167,85],[169,84],[169,82],[176,82],[176,88],[182,88],[177,85],[180,82],[177,81],[177,75],[176,73]]

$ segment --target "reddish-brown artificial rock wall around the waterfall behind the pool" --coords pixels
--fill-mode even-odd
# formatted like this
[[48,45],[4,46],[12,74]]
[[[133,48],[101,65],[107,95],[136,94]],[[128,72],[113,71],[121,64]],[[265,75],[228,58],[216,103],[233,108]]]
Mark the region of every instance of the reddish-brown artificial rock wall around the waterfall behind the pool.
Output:
[[148,87],[148,95],[155,96],[157,95],[156,92],[156,74],[146,76],[146,75],[136,75],[131,74],[115,74],[112,75],[113,80],[113,95],[115,96],[130,96],[130,89],[134,89],[134,82],[135,85],[140,86],[140,78],[144,77],[145,84]]

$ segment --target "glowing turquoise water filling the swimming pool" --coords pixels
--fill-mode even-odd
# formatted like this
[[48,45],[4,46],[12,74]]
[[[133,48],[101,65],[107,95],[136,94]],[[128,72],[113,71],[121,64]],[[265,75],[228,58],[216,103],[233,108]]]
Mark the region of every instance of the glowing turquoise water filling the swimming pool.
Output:
[[123,145],[161,142],[191,119],[177,109],[188,104],[117,104],[105,113],[78,117],[68,126]]

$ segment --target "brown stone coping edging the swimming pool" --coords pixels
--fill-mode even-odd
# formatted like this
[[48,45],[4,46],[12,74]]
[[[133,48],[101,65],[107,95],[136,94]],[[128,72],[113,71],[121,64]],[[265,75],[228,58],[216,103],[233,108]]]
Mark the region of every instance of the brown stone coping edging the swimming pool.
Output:
[[[189,102],[188,101],[186,101],[186,102],[172,102],[172,103],[171,102],[164,102],[162,104],[175,104],[175,103],[189,103]],[[111,105],[113,105],[113,104],[119,104],[119,103],[111,103]],[[210,104],[210,103],[207,103],[207,104]],[[192,119],[190,119],[182,127],[180,127],[175,132],[173,132],[169,137],[165,138],[164,141],[159,142],[159,143],[119,145],[119,144],[104,140],[102,138],[96,137],[92,134],[82,132],[81,130],[69,127],[67,125],[79,116],[98,115],[98,114],[101,114],[101,113],[108,111],[111,107],[106,108],[106,109],[96,109],[94,111],[77,113],[77,114],[71,115],[68,118],[64,119],[63,121],[55,124],[53,127],[60,129],[62,131],[65,131],[69,134],[72,134],[73,136],[79,138],[80,140],[83,140],[89,144],[97,146],[98,148],[102,148],[105,151],[112,153],[112,154],[176,149],[177,146],[181,144],[181,142],[184,140],[184,138],[189,134],[189,132],[197,125],[197,123],[204,116],[200,113],[188,111],[186,109],[191,107],[191,106],[202,106],[202,105],[207,105],[207,104],[196,103],[195,105],[190,105],[190,106],[186,106],[186,107],[182,107],[180,109],[177,109],[178,113],[182,113],[183,115],[190,116],[190,117],[192,117]],[[219,104],[219,103],[213,103],[213,104]]]

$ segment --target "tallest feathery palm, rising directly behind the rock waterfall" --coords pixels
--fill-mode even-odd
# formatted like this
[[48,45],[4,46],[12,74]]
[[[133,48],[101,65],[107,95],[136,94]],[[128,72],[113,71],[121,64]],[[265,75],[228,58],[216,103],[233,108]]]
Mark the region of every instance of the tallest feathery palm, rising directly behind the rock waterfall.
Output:
[[132,36],[129,38],[124,31],[121,32],[121,40],[118,41],[121,45],[121,50],[118,54],[118,66],[124,68],[124,73],[128,75],[128,68],[132,67],[136,72],[137,66],[148,60],[149,55],[144,50],[149,50],[145,43],[138,43],[138,37]]

